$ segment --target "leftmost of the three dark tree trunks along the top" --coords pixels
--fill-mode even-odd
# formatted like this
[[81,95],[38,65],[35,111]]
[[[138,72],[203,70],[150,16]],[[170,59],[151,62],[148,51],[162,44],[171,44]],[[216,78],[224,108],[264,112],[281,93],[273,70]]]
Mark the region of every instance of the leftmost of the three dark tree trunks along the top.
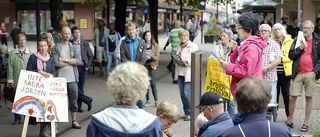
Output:
[[51,26],[56,31],[60,31],[59,22],[62,20],[62,0],[50,0]]

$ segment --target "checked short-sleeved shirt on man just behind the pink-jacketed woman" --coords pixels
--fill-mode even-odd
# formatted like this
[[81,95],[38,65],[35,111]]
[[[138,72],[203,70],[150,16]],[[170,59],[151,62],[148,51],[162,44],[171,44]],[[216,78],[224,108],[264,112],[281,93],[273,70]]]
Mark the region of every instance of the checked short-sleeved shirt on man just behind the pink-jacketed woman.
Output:
[[[282,58],[280,46],[277,42],[269,39],[267,42],[267,47],[262,51],[263,55],[263,67],[268,66],[271,64],[277,57]],[[262,74],[262,78],[266,80],[267,82],[276,81],[278,80],[277,77],[277,68],[269,68],[269,70],[266,73]]]

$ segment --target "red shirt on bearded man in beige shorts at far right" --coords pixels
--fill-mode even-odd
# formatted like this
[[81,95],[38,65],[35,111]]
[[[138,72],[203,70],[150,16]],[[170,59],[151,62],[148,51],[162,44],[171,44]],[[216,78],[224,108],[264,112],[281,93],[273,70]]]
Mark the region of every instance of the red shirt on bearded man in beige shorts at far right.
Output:
[[301,54],[298,74],[305,74],[313,71],[312,39],[306,41],[308,43],[308,47]]

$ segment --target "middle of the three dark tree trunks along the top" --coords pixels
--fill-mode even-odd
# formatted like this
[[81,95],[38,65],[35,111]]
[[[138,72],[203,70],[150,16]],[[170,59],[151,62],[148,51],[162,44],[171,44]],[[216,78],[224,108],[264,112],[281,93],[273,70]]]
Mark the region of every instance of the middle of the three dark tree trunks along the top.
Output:
[[125,35],[125,24],[126,24],[126,13],[127,13],[127,0],[116,0],[115,1],[115,30],[120,33],[121,36]]

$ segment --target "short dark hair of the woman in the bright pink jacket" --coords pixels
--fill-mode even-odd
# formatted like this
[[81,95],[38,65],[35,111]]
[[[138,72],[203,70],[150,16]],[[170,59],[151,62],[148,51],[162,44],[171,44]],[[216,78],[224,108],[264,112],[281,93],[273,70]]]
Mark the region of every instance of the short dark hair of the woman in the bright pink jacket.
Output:
[[259,20],[253,13],[244,13],[238,19],[239,24],[246,32],[251,31],[251,35],[257,35],[259,33]]

